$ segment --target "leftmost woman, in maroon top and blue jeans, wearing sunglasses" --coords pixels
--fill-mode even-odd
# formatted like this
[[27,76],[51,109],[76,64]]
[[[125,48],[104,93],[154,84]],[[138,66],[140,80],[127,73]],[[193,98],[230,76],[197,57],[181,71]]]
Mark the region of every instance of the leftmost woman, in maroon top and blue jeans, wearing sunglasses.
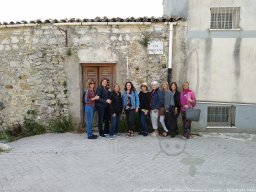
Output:
[[99,99],[99,96],[95,95],[95,82],[93,80],[89,80],[88,90],[84,93],[85,122],[86,122],[88,139],[97,139],[97,136],[93,135],[93,132],[92,132],[95,100],[97,99]]

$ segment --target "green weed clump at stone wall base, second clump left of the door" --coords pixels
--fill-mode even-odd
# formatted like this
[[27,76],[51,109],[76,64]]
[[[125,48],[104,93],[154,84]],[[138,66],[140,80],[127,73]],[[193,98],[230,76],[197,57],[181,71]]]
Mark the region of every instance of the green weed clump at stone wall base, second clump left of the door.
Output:
[[46,129],[43,125],[36,122],[33,118],[25,118],[22,132],[24,136],[39,135],[46,132]]

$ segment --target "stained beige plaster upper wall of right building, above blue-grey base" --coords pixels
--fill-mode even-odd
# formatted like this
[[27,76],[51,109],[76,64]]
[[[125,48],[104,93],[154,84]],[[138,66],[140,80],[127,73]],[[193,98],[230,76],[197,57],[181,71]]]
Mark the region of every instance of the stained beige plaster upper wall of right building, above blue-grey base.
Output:
[[[176,2],[179,3],[179,2]],[[253,0],[190,0],[174,37],[174,76],[201,101],[256,103],[256,4]],[[211,7],[241,7],[240,30],[209,30]],[[184,28],[186,34],[179,32]],[[182,39],[184,41],[182,41]],[[184,43],[184,44],[182,44]]]

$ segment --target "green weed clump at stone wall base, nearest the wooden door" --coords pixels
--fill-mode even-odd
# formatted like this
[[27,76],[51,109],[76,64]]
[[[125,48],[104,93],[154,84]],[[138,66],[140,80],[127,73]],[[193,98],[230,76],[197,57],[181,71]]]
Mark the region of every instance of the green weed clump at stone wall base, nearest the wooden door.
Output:
[[49,128],[51,132],[54,133],[64,133],[74,130],[72,120],[70,117],[59,117],[51,120],[49,123]]

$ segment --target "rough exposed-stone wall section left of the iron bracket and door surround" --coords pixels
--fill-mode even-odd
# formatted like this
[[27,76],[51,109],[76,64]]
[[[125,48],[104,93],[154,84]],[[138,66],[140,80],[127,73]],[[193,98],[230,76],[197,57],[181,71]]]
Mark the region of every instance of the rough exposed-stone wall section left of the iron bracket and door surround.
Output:
[[68,115],[65,51],[58,31],[49,26],[0,29],[0,126]]

